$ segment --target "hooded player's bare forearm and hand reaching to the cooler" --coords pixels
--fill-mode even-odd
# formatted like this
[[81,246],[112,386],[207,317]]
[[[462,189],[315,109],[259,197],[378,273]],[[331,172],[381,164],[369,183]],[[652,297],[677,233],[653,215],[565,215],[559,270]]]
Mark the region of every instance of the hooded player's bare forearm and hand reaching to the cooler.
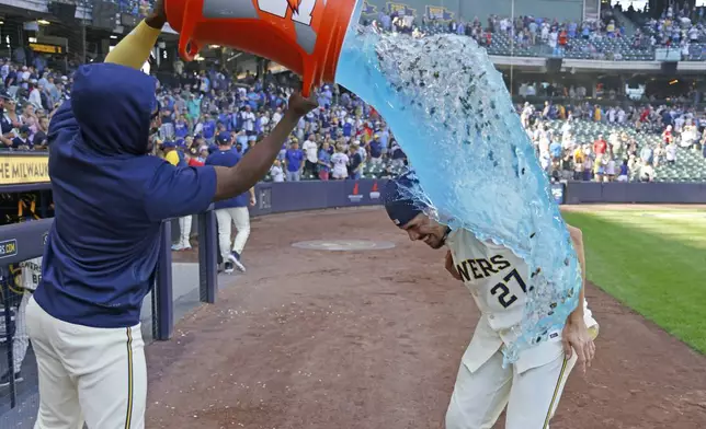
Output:
[[316,101],[300,94],[289,97],[289,108],[272,132],[242,156],[232,167],[216,166],[215,200],[232,198],[253,187],[267,173],[299,118],[317,107]]

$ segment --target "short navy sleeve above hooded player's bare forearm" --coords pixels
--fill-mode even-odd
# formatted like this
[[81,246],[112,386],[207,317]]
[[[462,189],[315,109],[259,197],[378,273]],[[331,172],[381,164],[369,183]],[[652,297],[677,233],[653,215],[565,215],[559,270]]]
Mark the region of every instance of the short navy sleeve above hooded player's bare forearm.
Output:
[[147,185],[145,205],[151,221],[196,215],[216,196],[213,166],[176,167],[162,163]]

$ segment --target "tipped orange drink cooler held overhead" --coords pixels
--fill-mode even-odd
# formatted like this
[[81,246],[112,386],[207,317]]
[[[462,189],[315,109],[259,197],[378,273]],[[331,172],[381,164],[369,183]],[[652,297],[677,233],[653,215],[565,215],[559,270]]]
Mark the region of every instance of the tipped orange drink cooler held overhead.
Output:
[[224,45],[269,58],[301,76],[305,96],[333,82],[341,45],[363,0],[166,0],[187,61],[204,45]]

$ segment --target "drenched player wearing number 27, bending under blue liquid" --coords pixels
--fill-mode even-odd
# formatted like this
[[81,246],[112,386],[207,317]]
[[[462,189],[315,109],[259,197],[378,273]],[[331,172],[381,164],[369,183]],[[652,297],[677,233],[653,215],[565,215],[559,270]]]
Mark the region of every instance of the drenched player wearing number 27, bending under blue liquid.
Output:
[[[580,293],[580,304],[567,318],[563,331],[549,333],[545,343],[521,352],[514,364],[503,368],[503,347],[526,303],[525,262],[506,247],[482,242],[468,230],[437,223],[406,197],[411,179],[390,181],[385,208],[390,219],[412,241],[432,248],[448,247],[446,269],[472,294],[481,317],[466,352],[446,411],[446,429],[490,429],[506,407],[506,429],[546,429],[567,376],[578,362],[591,364],[597,323]],[[582,273],[581,231],[569,227]]]

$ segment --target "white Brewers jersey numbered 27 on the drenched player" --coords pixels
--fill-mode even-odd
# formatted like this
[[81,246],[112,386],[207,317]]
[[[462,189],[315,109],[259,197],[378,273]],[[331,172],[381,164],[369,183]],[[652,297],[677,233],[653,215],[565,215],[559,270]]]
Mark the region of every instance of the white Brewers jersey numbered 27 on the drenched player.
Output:
[[[449,247],[456,270],[470,291],[482,313],[474,338],[464,355],[470,371],[478,369],[503,345],[513,341],[511,328],[522,321],[527,302],[527,264],[508,247],[483,243],[468,230],[448,234]],[[588,306],[584,308],[589,327],[595,325]],[[520,355],[515,367],[519,372],[536,368],[562,353],[561,332],[549,333],[549,339]]]

